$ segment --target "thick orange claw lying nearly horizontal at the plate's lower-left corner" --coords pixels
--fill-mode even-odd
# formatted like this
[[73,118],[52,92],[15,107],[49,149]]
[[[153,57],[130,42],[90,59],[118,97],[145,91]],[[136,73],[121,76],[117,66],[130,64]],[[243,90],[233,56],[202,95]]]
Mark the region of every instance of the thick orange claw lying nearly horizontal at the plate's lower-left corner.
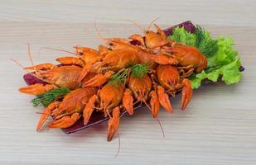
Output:
[[77,112],[72,114],[71,116],[70,115],[65,115],[64,117],[60,118],[59,120],[52,121],[48,125],[48,128],[65,129],[67,127],[70,127],[71,125],[74,125],[75,122],[80,119],[80,116],[81,115]]

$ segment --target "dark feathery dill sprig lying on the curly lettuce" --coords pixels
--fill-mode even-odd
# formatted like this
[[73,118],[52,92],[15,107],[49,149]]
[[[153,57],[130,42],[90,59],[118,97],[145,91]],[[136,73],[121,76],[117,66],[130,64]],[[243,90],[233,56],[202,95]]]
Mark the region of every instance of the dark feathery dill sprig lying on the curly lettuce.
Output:
[[200,50],[201,54],[204,54],[206,57],[209,57],[215,54],[218,50],[218,40],[213,40],[209,37],[207,32],[200,27],[196,26],[196,42],[195,46]]

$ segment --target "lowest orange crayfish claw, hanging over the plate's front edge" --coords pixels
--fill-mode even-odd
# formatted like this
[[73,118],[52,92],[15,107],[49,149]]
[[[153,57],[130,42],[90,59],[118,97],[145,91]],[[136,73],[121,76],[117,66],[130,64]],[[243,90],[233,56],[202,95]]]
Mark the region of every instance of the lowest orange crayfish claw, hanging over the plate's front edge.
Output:
[[119,120],[120,120],[120,110],[119,107],[115,107],[112,111],[112,117],[109,119],[109,128],[107,134],[107,140],[111,141],[114,137],[114,134],[118,132]]

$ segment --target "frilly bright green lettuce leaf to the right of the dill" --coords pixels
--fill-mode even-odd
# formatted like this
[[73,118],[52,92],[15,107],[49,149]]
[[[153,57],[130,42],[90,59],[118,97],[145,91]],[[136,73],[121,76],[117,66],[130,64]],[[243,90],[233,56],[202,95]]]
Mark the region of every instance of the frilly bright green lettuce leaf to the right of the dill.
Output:
[[215,54],[207,57],[207,68],[202,73],[197,73],[192,77],[191,83],[194,88],[200,87],[200,82],[207,78],[216,82],[220,75],[226,84],[239,82],[242,73],[239,72],[241,61],[238,52],[233,50],[234,41],[229,37],[219,37],[218,50]]

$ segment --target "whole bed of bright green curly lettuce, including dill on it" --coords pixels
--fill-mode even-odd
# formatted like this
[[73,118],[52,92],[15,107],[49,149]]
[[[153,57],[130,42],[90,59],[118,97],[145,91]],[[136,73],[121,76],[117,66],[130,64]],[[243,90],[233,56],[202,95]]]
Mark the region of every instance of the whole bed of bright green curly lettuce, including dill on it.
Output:
[[204,71],[191,75],[192,87],[200,87],[203,80],[216,82],[220,77],[227,85],[239,82],[242,74],[239,72],[241,61],[238,52],[233,50],[234,40],[220,36],[213,39],[209,31],[196,27],[196,33],[192,34],[184,28],[177,27],[169,40],[184,42],[186,45],[196,46],[200,53],[205,55],[208,64]]

